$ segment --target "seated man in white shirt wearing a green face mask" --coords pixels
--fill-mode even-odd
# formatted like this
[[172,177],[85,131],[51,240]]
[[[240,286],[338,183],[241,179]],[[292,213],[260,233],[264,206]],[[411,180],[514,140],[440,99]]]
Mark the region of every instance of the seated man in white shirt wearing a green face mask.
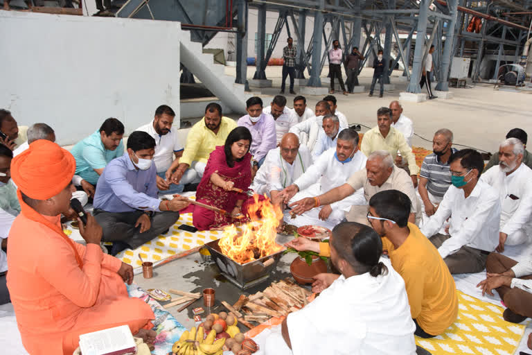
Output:
[[[479,181],[484,160],[477,150],[459,150],[449,162],[452,186],[421,232],[438,248],[452,274],[480,272],[499,244],[499,193]],[[450,216],[449,234],[438,233]]]

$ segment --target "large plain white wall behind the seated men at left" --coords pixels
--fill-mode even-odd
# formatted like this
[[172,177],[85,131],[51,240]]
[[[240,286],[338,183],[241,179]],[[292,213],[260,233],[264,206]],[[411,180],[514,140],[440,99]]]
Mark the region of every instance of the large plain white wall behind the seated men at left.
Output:
[[0,107],[48,123],[59,144],[111,116],[132,132],[163,103],[179,117],[180,35],[173,21],[0,10]]

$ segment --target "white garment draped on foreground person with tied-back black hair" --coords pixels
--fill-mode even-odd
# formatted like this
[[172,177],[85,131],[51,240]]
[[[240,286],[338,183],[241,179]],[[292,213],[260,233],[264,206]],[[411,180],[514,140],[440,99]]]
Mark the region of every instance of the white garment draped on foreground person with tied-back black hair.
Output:
[[405,282],[384,258],[386,275],[340,276],[287,317],[294,355],[415,354]]

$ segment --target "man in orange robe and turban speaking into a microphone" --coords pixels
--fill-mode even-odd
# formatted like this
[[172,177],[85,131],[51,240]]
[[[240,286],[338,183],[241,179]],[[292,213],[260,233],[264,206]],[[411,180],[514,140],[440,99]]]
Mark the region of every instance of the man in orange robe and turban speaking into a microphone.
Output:
[[127,295],[132,267],[103,254],[94,217],[87,214],[87,225],[78,220],[87,246],[62,231],[75,170],[73,156],[46,140],[33,142],[11,163],[21,214],[8,239],[7,282],[22,343],[32,355],[71,355],[80,334],[123,324],[132,334],[154,337],[145,330],[154,319],[150,306]]

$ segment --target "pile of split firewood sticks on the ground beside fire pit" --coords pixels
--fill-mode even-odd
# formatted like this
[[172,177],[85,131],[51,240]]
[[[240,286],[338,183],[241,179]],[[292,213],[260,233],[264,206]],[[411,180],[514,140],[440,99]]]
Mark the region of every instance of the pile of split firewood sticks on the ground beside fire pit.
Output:
[[222,302],[224,307],[238,317],[238,321],[249,329],[272,317],[282,317],[297,311],[313,300],[314,295],[295,284],[291,279],[274,282],[263,292],[254,295],[240,295],[238,301],[231,306]]

